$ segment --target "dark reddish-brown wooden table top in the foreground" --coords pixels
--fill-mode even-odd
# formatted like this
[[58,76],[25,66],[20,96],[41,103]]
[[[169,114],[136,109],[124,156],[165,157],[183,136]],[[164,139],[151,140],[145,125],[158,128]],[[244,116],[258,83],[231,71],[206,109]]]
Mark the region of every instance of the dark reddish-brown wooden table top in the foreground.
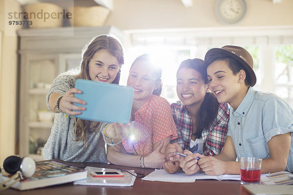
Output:
[[[58,159],[56,160],[58,161]],[[102,163],[70,163],[76,167],[103,167],[111,169],[135,170],[148,175],[154,169],[124,167]],[[132,187],[83,186],[67,183],[36,190],[18,191],[7,189],[0,195],[249,195],[239,181],[196,180],[194,183],[172,183],[144,181],[136,178]]]

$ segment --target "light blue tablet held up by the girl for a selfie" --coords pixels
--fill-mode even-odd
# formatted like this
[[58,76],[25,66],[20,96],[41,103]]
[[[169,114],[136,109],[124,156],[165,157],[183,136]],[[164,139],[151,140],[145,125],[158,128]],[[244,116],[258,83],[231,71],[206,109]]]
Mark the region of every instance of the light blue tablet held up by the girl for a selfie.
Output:
[[129,122],[133,99],[132,87],[77,79],[75,88],[83,93],[74,96],[86,102],[85,105],[74,103],[85,107],[85,111],[75,117],[108,123]]

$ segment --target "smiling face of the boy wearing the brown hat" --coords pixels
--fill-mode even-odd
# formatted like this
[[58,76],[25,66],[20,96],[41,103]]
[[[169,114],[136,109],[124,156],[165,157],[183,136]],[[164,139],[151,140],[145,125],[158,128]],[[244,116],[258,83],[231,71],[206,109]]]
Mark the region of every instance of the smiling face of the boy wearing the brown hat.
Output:
[[213,61],[207,68],[209,89],[215,94],[219,103],[229,103],[235,110],[248,90],[245,86],[245,72],[236,75],[225,60]]

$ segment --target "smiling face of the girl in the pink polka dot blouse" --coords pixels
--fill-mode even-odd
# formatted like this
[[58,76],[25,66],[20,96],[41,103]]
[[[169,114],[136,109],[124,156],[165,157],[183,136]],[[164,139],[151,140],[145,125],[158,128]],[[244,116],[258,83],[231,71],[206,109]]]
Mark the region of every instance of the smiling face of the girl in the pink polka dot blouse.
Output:
[[145,103],[152,95],[152,92],[158,88],[160,79],[152,78],[153,71],[147,61],[137,60],[133,63],[127,79],[127,86],[134,88],[134,101]]

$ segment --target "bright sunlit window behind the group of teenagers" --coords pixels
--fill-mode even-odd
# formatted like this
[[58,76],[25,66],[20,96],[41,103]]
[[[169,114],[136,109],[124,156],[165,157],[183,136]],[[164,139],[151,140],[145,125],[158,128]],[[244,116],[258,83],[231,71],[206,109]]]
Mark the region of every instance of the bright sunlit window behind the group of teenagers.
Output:
[[293,28],[235,27],[128,33],[132,45],[126,56],[131,58],[126,60],[124,80],[136,57],[152,54],[163,70],[161,96],[170,103],[178,100],[176,71],[183,60],[204,59],[210,48],[238,45],[246,48],[253,58],[257,78],[253,88],[275,93],[293,107]]

